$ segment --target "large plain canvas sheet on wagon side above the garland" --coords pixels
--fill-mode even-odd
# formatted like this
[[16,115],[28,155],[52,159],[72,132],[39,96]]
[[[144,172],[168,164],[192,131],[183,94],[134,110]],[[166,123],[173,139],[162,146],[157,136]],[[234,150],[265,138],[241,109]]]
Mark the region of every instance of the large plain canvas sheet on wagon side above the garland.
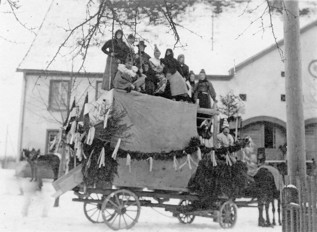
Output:
[[176,102],[136,91],[114,89],[113,107],[126,110],[123,123],[133,137],[120,148],[144,153],[170,152],[188,146],[197,136],[197,105]]

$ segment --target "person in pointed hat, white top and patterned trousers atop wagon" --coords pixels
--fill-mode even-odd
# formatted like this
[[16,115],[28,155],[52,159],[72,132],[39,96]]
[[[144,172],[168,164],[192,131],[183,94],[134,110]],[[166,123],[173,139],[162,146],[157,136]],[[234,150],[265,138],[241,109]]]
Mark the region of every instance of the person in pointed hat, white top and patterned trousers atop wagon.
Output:
[[153,80],[158,83],[157,88],[155,90],[155,94],[157,95],[164,93],[166,83],[167,83],[167,79],[165,78],[163,74],[164,65],[160,63],[159,56],[160,56],[159,48],[157,44],[154,44],[154,58],[151,58],[149,62],[150,62],[150,68],[155,72],[155,79]]

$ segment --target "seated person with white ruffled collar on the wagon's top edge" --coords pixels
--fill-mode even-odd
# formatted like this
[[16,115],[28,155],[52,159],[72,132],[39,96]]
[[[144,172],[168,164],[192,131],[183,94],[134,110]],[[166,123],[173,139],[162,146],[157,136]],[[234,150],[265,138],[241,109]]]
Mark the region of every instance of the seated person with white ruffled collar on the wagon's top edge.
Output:
[[133,66],[133,59],[127,57],[125,64],[118,65],[118,72],[114,77],[114,88],[124,89],[127,92],[131,90],[141,91],[141,86],[145,83],[145,75],[137,74],[138,68]]

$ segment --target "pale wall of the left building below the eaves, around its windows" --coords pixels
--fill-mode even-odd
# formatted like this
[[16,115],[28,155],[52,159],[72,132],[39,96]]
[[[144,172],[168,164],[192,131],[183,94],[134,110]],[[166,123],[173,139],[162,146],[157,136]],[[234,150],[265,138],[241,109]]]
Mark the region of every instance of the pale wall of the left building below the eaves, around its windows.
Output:
[[[70,80],[67,76],[40,77],[38,75],[26,75],[25,109],[22,129],[21,149],[40,149],[45,153],[48,130],[58,130],[67,115],[67,111],[48,111],[50,80]],[[82,109],[86,93],[89,102],[95,100],[96,81],[102,78],[76,77],[71,88],[70,105],[76,97],[76,105]],[[36,84],[37,83],[37,84]]]

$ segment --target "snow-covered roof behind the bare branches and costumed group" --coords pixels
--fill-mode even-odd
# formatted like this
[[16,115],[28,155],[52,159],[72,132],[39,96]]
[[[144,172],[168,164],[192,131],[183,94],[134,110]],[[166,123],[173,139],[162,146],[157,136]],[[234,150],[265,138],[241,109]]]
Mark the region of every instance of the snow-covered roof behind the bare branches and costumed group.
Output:
[[[310,2],[300,1],[300,7],[310,6],[316,12],[317,6]],[[86,3],[87,0],[53,0],[52,7],[28,53],[18,66],[18,70],[78,72],[83,59],[80,55],[74,57],[72,50],[77,45],[76,40],[80,37],[80,32],[74,33],[62,46],[54,60],[53,57],[58,47],[69,35],[65,29],[73,28],[85,19]],[[196,74],[201,69],[205,69],[208,75],[228,75],[229,69],[234,65],[245,61],[274,43],[270,28],[264,28],[264,32],[262,32],[261,20],[249,26],[250,22],[257,19],[264,11],[265,4],[260,5],[257,10],[251,11],[257,5],[259,5],[259,1],[233,2],[233,5],[223,8],[222,13],[214,14],[213,17],[211,5],[208,3],[197,2],[187,7],[186,12],[175,19],[176,23],[186,28],[177,28],[180,40],[186,46],[175,48],[175,57],[184,54],[185,63]],[[273,14],[272,20],[275,36],[277,39],[282,39],[282,16]],[[301,17],[301,25],[309,22],[312,22],[309,16]],[[263,23],[264,27],[269,25],[268,15],[265,16]],[[126,36],[132,33],[131,29],[122,28]],[[114,30],[117,29],[120,29],[119,25],[114,28]],[[247,30],[245,31],[245,29]],[[106,28],[104,36],[97,35],[100,44],[90,46],[84,70],[80,70],[81,72],[104,72],[106,55],[101,51],[101,46],[106,40],[111,39],[110,30],[111,26]],[[137,32],[148,40],[145,51],[150,56],[153,56],[155,43],[161,51],[161,57],[164,56],[167,48],[173,48],[175,44],[174,36],[166,24],[147,26],[140,22]]]

